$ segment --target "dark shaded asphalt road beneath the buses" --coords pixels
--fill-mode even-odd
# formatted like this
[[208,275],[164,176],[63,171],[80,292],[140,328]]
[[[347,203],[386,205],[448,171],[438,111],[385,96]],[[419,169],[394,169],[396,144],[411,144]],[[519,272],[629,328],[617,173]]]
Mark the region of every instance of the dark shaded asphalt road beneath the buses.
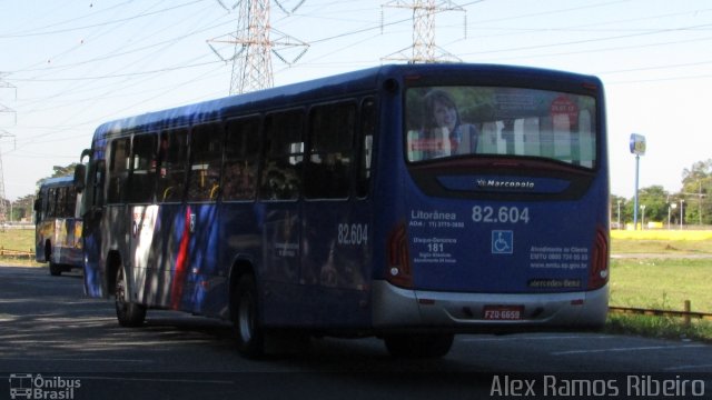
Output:
[[[655,398],[641,394],[664,384],[684,391],[674,398],[712,399],[712,346],[595,332],[459,336],[443,359],[395,360],[377,339],[315,339],[251,361],[220,321],[149,311],[144,328],[125,329],[112,302],[83,297],[80,273],[0,267],[0,400],[12,389],[17,399]],[[36,392],[23,397],[29,386]]]

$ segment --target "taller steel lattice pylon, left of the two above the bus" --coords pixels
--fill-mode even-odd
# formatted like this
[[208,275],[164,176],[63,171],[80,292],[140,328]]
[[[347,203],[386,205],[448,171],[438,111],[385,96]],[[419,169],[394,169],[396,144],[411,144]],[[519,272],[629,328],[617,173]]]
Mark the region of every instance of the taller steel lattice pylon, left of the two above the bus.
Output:
[[[299,2],[288,11],[277,0],[275,2],[288,14],[304,3],[304,1]],[[237,31],[208,40],[208,46],[220,59],[233,62],[230,94],[271,88],[274,86],[271,56],[275,54],[283,62],[291,66],[307,51],[309,44],[269,26],[270,0],[240,0],[231,8],[226,7],[220,0],[218,3],[228,11],[238,9]],[[277,38],[273,40],[270,33],[275,33]],[[226,59],[211,43],[234,44],[233,56]],[[303,48],[303,50],[296,57],[287,58],[281,53],[286,48]]]

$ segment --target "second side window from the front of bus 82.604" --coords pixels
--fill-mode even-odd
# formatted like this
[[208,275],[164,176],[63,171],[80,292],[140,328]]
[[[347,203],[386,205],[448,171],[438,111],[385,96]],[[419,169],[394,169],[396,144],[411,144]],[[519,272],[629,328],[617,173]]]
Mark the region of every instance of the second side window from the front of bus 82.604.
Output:
[[134,137],[129,200],[150,203],[156,188],[156,134]]

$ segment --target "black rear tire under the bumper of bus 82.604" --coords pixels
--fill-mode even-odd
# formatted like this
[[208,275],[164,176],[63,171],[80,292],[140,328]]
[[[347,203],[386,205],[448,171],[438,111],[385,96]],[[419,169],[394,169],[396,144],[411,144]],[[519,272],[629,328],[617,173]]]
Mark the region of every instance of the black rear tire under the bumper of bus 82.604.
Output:
[[386,349],[395,358],[441,358],[453,347],[453,333],[386,336]]

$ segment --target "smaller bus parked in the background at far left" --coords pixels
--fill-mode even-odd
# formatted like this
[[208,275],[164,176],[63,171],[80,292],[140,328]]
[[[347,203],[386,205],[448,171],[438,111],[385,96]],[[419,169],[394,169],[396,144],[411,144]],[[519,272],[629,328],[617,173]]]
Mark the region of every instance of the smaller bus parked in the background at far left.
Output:
[[52,276],[83,267],[80,203],[73,177],[40,183],[34,199],[34,259],[48,262]]

